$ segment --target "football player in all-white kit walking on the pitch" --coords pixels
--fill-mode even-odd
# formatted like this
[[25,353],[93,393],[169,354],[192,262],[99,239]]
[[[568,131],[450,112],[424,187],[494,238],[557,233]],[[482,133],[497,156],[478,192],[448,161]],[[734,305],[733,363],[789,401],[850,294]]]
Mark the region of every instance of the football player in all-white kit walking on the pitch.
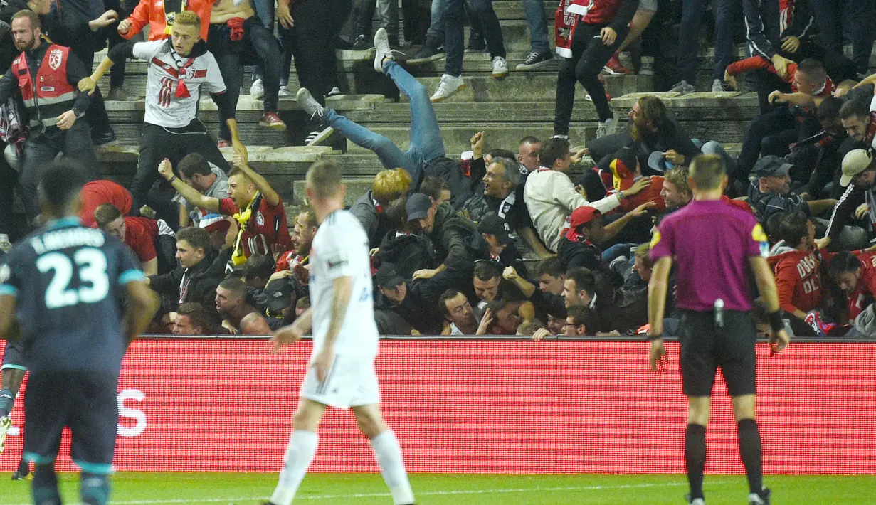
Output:
[[405,462],[395,434],[380,413],[374,369],[378,328],[374,323],[368,236],[356,216],[343,210],[341,169],[331,161],[307,170],[307,200],[319,223],[310,253],[311,307],[273,335],[274,351],[313,329],[314,350],[301,384],[293,432],[279,482],[265,505],[289,505],[314,459],[317,431],[327,406],[352,409],[396,505],[413,503]]

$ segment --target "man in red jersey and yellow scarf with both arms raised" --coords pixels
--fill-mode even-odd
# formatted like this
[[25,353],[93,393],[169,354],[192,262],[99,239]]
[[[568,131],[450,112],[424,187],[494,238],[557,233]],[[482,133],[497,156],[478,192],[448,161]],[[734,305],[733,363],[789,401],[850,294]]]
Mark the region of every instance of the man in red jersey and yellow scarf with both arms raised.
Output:
[[159,173],[195,207],[230,215],[237,221],[240,229],[231,255],[234,264],[243,264],[253,254],[272,256],[285,252],[291,247],[292,239],[283,200],[268,181],[247,164],[245,154],[236,153],[234,162],[234,170],[228,177],[229,197],[223,200],[205,196],[178,179],[167,158],[159,164]]

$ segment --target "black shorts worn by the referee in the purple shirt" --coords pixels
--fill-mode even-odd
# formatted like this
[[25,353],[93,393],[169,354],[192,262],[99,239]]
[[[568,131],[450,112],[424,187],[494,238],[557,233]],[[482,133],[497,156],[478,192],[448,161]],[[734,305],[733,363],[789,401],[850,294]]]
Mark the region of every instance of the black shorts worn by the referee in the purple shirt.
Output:
[[757,333],[748,312],[724,311],[724,326],[714,312],[682,311],[678,341],[682,347],[682,390],[685,396],[711,396],[721,368],[730,396],[753,395]]

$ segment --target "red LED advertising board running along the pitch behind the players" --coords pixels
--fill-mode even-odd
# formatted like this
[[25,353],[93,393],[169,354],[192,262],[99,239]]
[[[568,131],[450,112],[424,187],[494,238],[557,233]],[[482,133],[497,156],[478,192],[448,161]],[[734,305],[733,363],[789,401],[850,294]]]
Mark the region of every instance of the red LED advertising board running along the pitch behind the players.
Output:
[[[385,417],[410,472],[683,473],[678,347],[663,375],[646,342],[385,340]],[[139,340],[119,384],[119,471],[277,472],[310,353],[265,340]],[[876,473],[876,345],[758,347],[767,473]],[[0,469],[21,453],[23,403]],[[741,473],[720,380],[710,473]],[[350,411],[329,410],[314,472],[377,472]],[[68,452],[65,438],[61,452]],[[66,455],[60,470],[74,466]]]

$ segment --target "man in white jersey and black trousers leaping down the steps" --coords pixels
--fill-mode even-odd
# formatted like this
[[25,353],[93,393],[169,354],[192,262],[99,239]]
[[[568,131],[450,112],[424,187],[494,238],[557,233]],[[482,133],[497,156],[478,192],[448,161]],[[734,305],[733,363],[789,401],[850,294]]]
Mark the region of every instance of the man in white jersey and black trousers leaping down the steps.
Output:
[[[137,58],[149,63],[140,158],[137,174],[131,183],[131,194],[138,204],[154,208],[158,217],[171,223],[172,227],[180,219],[178,207],[170,201],[173,191],[162,185],[166,191],[150,194],[158,179],[155,169],[161,160],[167,158],[171,165],[176,166],[187,154],[198,152],[223,172],[231,169],[216,147],[215,139],[198,119],[201,86],[206,87],[213,98],[221,122],[231,123],[229,127],[237,130],[234,105],[226,93],[219,66],[201,40],[200,32],[198,15],[194,11],[182,11],[174,18],[170,39],[125,42],[114,46],[94,74],[79,83],[80,90],[93,90],[95,83],[117,60]],[[237,136],[233,141],[234,151],[242,153],[244,146]]]

